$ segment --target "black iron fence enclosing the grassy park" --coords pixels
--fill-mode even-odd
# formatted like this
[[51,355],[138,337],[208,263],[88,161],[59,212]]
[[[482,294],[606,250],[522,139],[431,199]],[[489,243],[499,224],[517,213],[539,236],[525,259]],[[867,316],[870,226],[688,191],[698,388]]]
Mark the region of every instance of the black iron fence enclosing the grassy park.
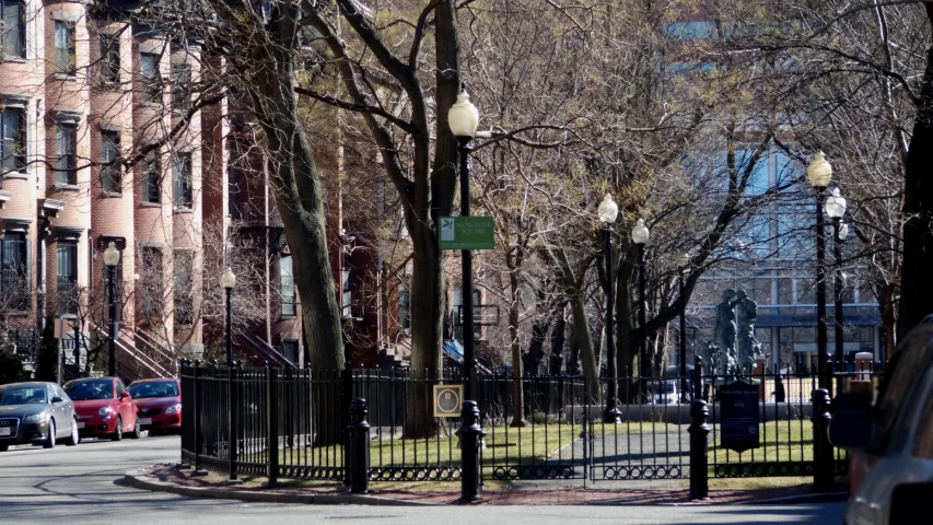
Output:
[[[875,374],[835,374],[832,389]],[[430,411],[434,386],[460,384],[458,371],[432,376],[185,363],[180,375],[182,455],[198,469],[349,486],[351,465],[366,481],[459,480],[469,468],[462,417]],[[720,389],[735,381],[759,393],[759,444],[742,453],[722,442]],[[815,386],[815,377],[798,374],[724,377],[703,374],[701,365],[690,377],[600,378],[595,386],[583,377],[479,376],[485,436],[477,474],[584,483],[814,476],[823,457],[815,451],[825,446],[818,438],[826,433]],[[607,415],[603,400],[611,390],[617,411]],[[844,474],[844,454],[831,454],[824,464]]]

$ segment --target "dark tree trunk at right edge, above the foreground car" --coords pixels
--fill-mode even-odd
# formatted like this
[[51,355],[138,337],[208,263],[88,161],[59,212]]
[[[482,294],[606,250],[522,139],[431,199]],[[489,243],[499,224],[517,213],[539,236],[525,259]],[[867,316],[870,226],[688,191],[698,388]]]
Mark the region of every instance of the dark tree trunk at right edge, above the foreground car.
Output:
[[[933,5],[925,4],[933,23]],[[910,137],[905,166],[903,266],[901,268],[898,338],[933,313],[933,47],[926,50],[926,68],[920,90],[920,106]],[[888,355],[890,359],[890,355]]]

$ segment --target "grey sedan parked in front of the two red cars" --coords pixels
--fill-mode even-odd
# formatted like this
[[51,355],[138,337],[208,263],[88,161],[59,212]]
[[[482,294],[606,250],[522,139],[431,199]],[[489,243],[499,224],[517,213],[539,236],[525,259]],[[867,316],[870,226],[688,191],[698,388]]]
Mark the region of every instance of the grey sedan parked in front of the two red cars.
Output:
[[74,405],[55,383],[13,383],[0,386],[0,452],[10,445],[42,444],[51,448],[61,440],[78,444]]

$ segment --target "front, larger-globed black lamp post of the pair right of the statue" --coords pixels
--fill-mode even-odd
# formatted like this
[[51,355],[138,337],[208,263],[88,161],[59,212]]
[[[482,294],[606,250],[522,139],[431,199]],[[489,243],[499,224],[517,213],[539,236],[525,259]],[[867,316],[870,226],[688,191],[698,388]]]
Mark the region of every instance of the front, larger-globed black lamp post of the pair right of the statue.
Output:
[[826,376],[826,267],[824,258],[825,236],[823,220],[823,194],[832,178],[832,166],[826,161],[821,151],[807,166],[807,179],[816,189],[816,373],[819,388],[829,389],[829,378]]

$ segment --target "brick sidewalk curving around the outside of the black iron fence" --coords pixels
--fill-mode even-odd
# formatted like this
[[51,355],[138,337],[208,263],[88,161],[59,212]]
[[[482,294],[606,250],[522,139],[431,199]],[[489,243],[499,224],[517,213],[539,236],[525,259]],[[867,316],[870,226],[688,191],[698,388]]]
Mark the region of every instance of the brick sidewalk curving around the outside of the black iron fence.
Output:
[[[194,498],[237,499],[244,501],[368,505],[448,505],[457,504],[459,485],[455,482],[374,483],[369,494],[350,494],[334,482],[289,481],[264,488],[259,480],[230,486],[220,474],[194,476],[191,469],[159,465],[127,472],[126,482],[137,488],[174,492]],[[527,487],[485,490],[478,505],[709,505],[755,503],[812,503],[844,501],[843,492],[817,493],[809,486],[710,490],[708,500],[693,501],[680,488],[581,488]]]

